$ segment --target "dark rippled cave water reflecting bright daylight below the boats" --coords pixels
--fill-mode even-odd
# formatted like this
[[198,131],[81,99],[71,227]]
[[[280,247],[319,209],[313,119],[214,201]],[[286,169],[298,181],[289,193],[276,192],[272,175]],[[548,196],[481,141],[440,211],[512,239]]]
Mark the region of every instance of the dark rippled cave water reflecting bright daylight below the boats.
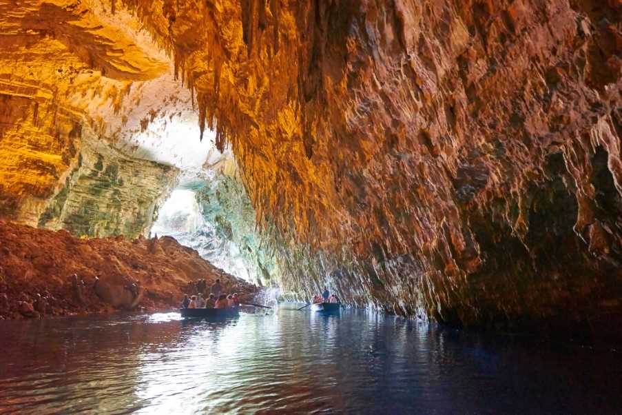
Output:
[[619,352],[361,310],[0,322],[0,412],[622,413]]

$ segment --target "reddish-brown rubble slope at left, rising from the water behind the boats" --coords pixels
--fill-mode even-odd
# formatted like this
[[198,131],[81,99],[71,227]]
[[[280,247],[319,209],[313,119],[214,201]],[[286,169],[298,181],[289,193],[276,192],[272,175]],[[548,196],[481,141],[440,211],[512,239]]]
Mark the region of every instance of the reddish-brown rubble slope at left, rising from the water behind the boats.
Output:
[[79,239],[0,221],[0,243],[0,318],[168,310],[195,281],[220,279],[243,300],[257,290],[170,237]]

